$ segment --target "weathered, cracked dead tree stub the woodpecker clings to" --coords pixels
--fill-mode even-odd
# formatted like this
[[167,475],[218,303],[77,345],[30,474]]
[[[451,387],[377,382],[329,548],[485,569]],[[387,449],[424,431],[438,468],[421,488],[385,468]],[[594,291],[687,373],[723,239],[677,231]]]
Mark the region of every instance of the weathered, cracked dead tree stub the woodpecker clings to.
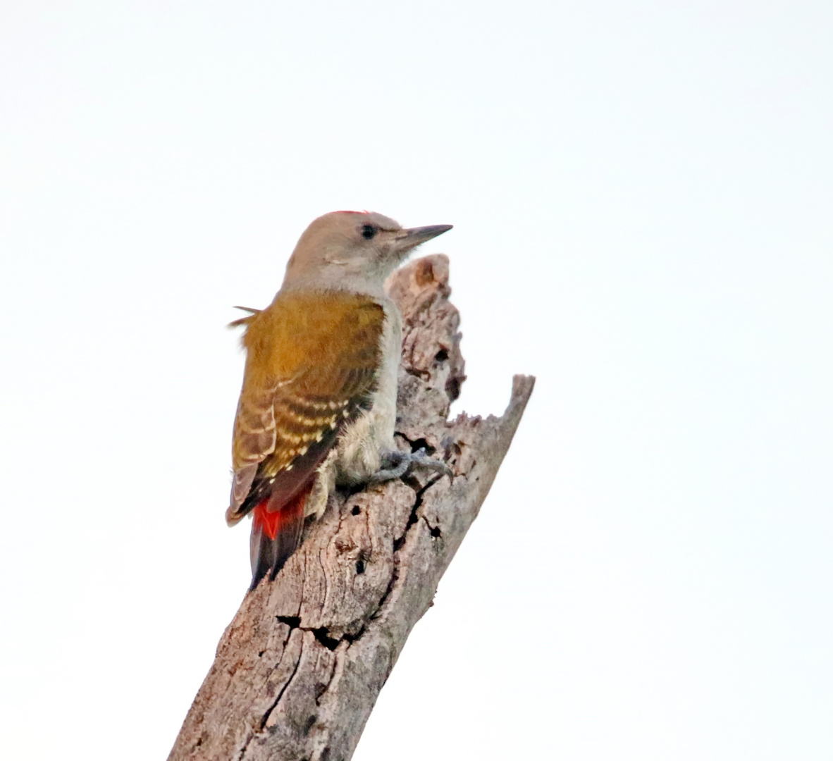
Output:
[[277,579],[243,600],[169,761],[350,759],[506,455],[534,378],[515,376],[502,417],[448,422],[465,379],[448,260],[419,259],[389,285],[404,317],[398,443],[454,478],[417,470],[332,495]]

